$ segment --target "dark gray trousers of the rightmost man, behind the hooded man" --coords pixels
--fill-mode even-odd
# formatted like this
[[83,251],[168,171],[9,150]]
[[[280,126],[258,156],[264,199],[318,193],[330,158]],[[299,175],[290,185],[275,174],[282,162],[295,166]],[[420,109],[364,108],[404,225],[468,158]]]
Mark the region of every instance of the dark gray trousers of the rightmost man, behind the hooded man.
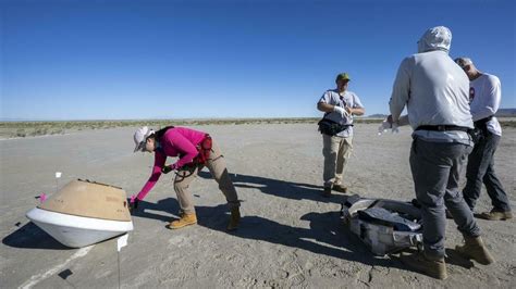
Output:
[[500,142],[500,136],[487,133],[469,154],[466,171],[466,187],[463,190],[464,200],[474,211],[478,197],[482,189],[482,181],[486,185],[491,203],[494,210],[508,212],[511,205],[507,194],[502,187],[502,183],[494,174],[494,152]]

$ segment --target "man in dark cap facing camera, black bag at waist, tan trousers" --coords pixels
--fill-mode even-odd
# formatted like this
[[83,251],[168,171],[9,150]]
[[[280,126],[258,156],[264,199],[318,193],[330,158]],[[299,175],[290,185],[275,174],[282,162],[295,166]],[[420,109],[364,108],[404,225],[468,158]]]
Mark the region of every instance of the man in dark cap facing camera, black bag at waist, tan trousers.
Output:
[[324,112],[319,122],[324,156],[324,197],[330,197],[332,189],[347,191],[342,178],[353,150],[353,115],[365,113],[358,96],[347,90],[349,80],[347,73],[339,74],[335,79],[336,88],[327,90],[317,103],[317,109]]

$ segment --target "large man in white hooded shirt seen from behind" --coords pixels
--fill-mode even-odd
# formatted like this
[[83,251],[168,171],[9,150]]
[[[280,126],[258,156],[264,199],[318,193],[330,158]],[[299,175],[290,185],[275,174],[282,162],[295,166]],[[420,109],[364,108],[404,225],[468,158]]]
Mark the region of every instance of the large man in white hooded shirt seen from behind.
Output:
[[[466,243],[459,254],[481,264],[494,262],[480,238],[480,229],[458,190],[459,176],[472,149],[474,127],[468,105],[469,81],[449,56],[452,33],[444,26],[428,29],[418,41],[418,53],[403,60],[390,100],[394,124],[415,129],[410,169],[423,222],[422,254],[402,255],[409,267],[433,278],[447,277],[444,262],[446,217],[453,214]],[[400,117],[404,108],[408,117]]]

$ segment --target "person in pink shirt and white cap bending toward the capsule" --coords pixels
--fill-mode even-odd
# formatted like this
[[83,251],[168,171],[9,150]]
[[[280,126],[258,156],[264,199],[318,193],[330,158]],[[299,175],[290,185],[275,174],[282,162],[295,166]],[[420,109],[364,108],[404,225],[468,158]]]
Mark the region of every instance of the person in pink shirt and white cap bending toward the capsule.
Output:
[[[139,193],[131,197],[132,210],[137,209],[138,202],[144,200],[162,173],[177,171],[174,177],[174,190],[181,208],[181,217],[172,221],[167,227],[179,229],[197,224],[189,185],[198,172],[207,166],[219,184],[219,189],[224,193],[231,211],[228,230],[238,227],[241,219],[238,197],[228,174],[224,156],[210,135],[186,127],[168,126],[153,131],[144,126],[134,133],[134,142],[136,144],[134,152],[147,151],[155,154],[155,164],[149,179]],[[179,160],[173,164],[165,165],[168,156],[179,156]]]

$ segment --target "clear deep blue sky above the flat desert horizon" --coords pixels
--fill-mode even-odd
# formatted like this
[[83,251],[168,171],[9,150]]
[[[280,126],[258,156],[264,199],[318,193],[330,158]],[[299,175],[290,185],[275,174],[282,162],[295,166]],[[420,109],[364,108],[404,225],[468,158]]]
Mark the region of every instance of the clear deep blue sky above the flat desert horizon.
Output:
[[516,108],[515,2],[0,0],[0,118],[320,116],[340,72],[367,115],[388,113],[438,25]]

